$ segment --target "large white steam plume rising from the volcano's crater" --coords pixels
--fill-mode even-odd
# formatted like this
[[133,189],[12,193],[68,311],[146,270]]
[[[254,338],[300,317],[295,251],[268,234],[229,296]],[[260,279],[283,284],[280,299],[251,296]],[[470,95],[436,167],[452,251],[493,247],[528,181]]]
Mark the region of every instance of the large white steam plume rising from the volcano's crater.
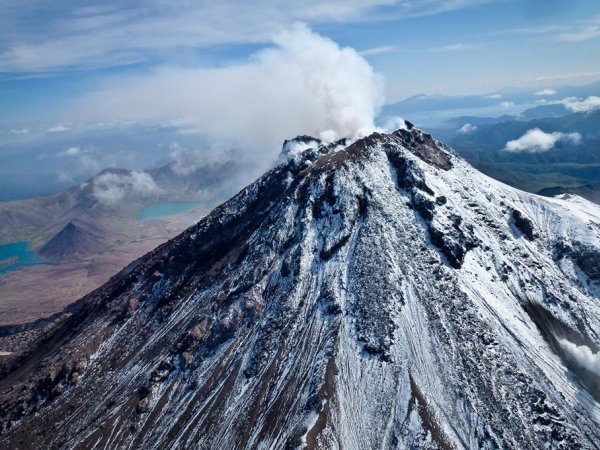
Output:
[[301,24],[274,44],[243,64],[113,78],[80,99],[70,120],[179,118],[188,129],[262,147],[272,158],[284,139],[298,134],[343,137],[374,129],[383,83],[355,50]]

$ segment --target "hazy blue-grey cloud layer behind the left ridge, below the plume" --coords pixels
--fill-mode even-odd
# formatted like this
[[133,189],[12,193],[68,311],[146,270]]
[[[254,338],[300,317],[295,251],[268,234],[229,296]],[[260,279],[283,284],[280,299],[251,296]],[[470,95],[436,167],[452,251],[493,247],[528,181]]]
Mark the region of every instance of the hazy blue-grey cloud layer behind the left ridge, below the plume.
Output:
[[[253,167],[256,158],[244,158],[249,152],[232,146],[215,149],[203,136],[184,133],[175,126],[73,125],[60,133],[25,131],[14,134],[0,129],[0,201],[60,194],[111,167],[149,170],[160,176],[156,168],[169,163],[186,174],[200,166],[235,159],[238,167],[244,160],[244,170],[238,171],[236,178],[246,176],[242,181],[248,183],[257,172]],[[227,175],[230,178],[232,174]],[[165,177],[169,176],[167,172]]]

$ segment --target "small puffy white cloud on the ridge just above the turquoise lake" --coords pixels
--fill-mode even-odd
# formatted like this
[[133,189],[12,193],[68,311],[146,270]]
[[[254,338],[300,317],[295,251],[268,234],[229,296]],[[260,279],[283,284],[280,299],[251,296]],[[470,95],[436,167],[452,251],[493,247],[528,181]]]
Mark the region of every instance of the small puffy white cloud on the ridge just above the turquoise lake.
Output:
[[114,205],[126,197],[158,194],[160,189],[146,172],[106,172],[94,178],[92,192],[101,203]]

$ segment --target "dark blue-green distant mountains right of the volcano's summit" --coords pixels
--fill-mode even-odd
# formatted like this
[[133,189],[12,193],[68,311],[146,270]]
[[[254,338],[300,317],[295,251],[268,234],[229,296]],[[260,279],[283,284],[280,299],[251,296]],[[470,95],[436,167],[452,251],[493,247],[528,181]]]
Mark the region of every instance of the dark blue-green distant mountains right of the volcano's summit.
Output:
[[[468,132],[464,131],[469,124]],[[467,161],[485,174],[529,192],[600,182],[600,110],[562,117],[495,119],[458,117],[445,128],[429,131],[442,136]],[[557,140],[546,151],[510,152],[509,141],[532,129],[545,133],[579,133],[580,140]],[[596,198],[596,197],[593,197]]]

